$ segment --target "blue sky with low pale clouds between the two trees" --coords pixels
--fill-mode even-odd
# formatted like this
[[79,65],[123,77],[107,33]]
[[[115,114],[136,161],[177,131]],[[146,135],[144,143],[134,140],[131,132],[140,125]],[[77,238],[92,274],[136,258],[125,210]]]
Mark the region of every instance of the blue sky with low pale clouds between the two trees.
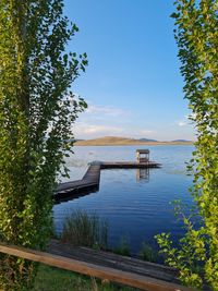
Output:
[[73,90],[89,107],[76,138],[194,138],[173,38],[173,0],[64,0],[80,28],[69,49],[87,52]]

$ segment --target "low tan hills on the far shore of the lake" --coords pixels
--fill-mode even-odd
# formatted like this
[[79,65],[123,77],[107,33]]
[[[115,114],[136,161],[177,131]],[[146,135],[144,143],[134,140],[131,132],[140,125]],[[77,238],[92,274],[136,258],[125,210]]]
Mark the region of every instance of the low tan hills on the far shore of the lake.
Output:
[[[183,141],[183,140],[180,140]],[[95,140],[76,141],[76,146],[125,146],[125,145],[174,145],[174,144],[192,144],[192,142],[158,142],[149,138],[128,138],[118,136],[104,136]]]

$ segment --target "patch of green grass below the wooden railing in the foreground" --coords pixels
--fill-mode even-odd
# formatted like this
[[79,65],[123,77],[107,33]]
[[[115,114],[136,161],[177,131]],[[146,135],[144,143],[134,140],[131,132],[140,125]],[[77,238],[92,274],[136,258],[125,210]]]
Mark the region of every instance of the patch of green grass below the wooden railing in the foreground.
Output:
[[137,289],[101,282],[87,276],[77,275],[45,265],[39,270],[32,291],[136,291]]

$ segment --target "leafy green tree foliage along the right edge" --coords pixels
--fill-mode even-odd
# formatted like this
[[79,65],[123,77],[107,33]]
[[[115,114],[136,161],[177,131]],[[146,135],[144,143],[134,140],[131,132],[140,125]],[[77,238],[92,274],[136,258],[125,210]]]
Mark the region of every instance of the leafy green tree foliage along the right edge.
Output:
[[169,234],[157,239],[184,283],[199,287],[206,280],[218,290],[218,4],[216,0],[178,0],[175,7],[172,17],[184,94],[197,132],[191,193],[201,221],[195,226],[184,216],[186,234],[180,248],[172,247]]

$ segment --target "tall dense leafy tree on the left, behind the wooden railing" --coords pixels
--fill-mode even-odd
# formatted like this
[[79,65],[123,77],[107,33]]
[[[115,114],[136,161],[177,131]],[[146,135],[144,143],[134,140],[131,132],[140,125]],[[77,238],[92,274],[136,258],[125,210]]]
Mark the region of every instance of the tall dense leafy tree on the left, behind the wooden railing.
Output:
[[[70,87],[87,56],[64,53],[77,31],[63,0],[0,1],[2,241],[43,250],[51,233],[51,197],[58,175],[68,174],[72,124],[86,107]],[[0,289],[31,290],[34,265],[0,258]]]

